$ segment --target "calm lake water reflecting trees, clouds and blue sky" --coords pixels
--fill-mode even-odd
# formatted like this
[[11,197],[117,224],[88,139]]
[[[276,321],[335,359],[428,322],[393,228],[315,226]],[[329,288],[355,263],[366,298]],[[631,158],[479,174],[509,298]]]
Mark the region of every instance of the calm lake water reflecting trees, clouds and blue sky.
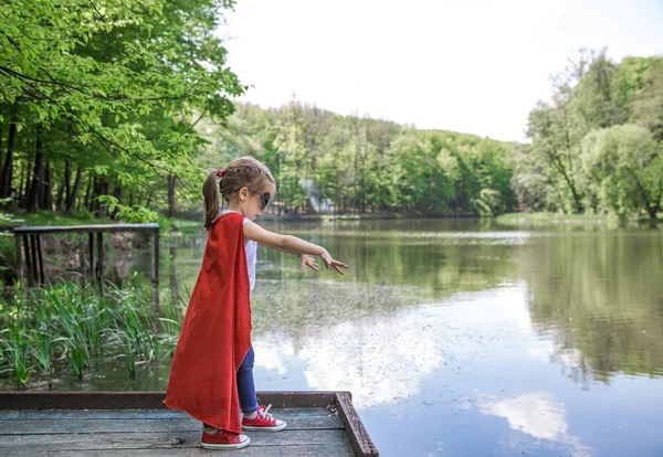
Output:
[[[351,391],[383,456],[663,455],[663,230],[263,225],[351,269],[261,248],[260,390]],[[161,283],[188,297],[204,235],[170,243]],[[108,365],[83,389],[160,390],[167,373]]]

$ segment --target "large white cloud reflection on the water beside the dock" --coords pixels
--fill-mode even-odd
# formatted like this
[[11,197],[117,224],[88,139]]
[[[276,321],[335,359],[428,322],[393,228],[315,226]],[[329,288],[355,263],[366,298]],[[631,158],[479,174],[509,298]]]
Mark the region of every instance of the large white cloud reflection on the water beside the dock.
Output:
[[464,360],[514,344],[523,332],[525,291],[522,284],[505,285],[292,336],[263,332],[253,337],[256,363],[281,375],[303,365],[307,385],[294,389],[351,391],[358,407],[396,402],[420,394],[422,380],[445,362],[461,370]]

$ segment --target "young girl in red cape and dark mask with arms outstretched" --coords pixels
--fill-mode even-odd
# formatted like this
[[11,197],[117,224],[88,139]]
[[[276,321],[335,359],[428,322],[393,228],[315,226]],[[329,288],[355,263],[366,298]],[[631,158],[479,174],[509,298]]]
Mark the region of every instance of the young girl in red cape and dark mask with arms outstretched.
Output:
[[[253,383],[250,293],[257,244],[298,254],[299,269],[317,270],[309,255],[343,275],[348,268],[322,246],[280,235],[252,221],[276,192],[270,170],[252,157],[211,172],[203,187],[208,242],[182,325],[164,403],[203,423],[201,444],[239,449],[244,431],[282,431],[286,424],[259,406]],[[228,209],[220,211],[219,193]],[[243,418],[240,417],[240,408]]]

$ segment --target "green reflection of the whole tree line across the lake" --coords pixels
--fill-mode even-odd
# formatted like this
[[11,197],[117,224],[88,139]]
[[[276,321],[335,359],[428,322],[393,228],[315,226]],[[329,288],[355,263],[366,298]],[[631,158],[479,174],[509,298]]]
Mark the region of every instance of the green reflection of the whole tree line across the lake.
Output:
[[[266,225],[329,246],[352,268],[346,277],[302,274],[294,256],[261,249],[254,337],[277,329],[297,341],[320,329],[343,339],[343,322],[398,321],[411,306],[520,284],[525,305],[513,318],[537,336],[532,358],[562,366],[585,386],[618,372],[663,374],[662,231],[509,231],[460,220]],[[202,234],[175,244],[170,278],[190,290]]]

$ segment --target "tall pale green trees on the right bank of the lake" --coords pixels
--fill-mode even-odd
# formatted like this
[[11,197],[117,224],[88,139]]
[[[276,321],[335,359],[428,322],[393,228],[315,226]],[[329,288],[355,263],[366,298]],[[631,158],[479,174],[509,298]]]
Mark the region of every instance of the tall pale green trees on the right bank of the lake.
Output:
[[516,151],[513,188],[524,211],[661,209],[663,59],[585,52],[529,114],[530,145]]

